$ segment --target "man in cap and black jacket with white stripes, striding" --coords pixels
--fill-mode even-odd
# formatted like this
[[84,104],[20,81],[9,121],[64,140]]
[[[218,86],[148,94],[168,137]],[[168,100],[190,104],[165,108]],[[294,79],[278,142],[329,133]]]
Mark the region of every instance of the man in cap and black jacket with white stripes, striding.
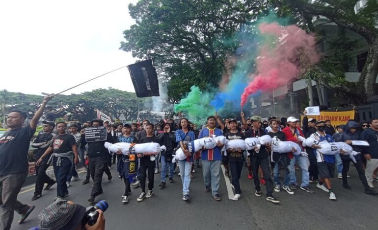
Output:
[[[32,147],[37,148],[35,150],[35,159],[39,159],[45,153],[56,136],[53,133],[53,129],[55,128],[54,122],[44,120],[42,121],[42,124],[43,132],[39,133],[31,144]],[[45,183],[47,183],[45,190],[50,189],[51,186],[56,183],[54,179],[51,179],[46,174],[46,170],[49,167],[47,160],[49,159],[45,159],[39,165],[35,165],[35,175],[37,176],[37,180],[35,182],[34,196],[31,198],[32,201],[37,200],[42,196],[42,189]]]

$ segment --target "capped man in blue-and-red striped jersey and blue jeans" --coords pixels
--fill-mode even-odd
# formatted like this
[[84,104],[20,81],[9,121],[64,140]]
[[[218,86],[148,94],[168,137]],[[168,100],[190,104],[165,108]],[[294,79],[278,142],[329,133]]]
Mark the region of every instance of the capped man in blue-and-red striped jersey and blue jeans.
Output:
[[[222,130],[216,128],[216,117],[209,116],[207,118],[207,127],[202,129],[198,134],[198,138],[222,136]],[[220,161],[222,160],[221,149],[223,145],[218,142],[213,149],[201,151],[203,179],[205,181],[205,192],[212,191],[213,198],[220,201],[218,194],[220,182]]]

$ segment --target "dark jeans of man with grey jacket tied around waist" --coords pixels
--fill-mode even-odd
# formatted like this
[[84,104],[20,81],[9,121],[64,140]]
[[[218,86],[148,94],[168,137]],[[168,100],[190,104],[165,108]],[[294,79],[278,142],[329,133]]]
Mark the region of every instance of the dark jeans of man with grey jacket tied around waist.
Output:
[[67,176],[71,170],[72,162],[67,157],[61,157],[61,165],[57,166],[57,157],[54,157],[54,174],[56,179],[56,195],[59,197],[64,197],[68,194],[67,189]]

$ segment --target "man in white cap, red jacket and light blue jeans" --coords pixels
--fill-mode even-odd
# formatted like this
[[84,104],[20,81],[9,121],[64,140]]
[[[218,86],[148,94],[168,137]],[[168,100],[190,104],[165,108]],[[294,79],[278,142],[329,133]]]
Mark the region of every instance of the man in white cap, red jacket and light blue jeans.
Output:
[[[294,116],[289,116],[287,118],[288,126],[282,130],[282,132],[286,136],[287,141],[293,141],[299,144],[301,146],[300,141],[298,139],[299,136],[303,137],[303,133],[300,129],[296,127],[298,119]],[[307,158],[299,155],[299,156],[293,156],[292,153],[289,153],[290,161],[290,188],[292,190],[297,190],[297,177],[296,177],[296,171],[295,171],[295,164],[298,161],[299,167],[302,170],[302,182],[300,184],[300,189],[313,193],[309,187],[309,173],[308,173],[308,165],[307,165]]]

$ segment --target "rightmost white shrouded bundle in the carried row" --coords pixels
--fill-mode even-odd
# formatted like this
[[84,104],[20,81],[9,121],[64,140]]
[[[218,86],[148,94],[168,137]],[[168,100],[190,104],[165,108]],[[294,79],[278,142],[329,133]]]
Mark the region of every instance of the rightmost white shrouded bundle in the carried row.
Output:
[[344,142],[328,142],[326,140],[319,143],[321,148],[317,149],[316,151],[324,154],[324,155],[336,155],[340,154],[340,150],[343,150],[345,153],[344,155],[349,155],[353,162],[356,162],[354,156],[359,154],[353,151],[352,147]]

